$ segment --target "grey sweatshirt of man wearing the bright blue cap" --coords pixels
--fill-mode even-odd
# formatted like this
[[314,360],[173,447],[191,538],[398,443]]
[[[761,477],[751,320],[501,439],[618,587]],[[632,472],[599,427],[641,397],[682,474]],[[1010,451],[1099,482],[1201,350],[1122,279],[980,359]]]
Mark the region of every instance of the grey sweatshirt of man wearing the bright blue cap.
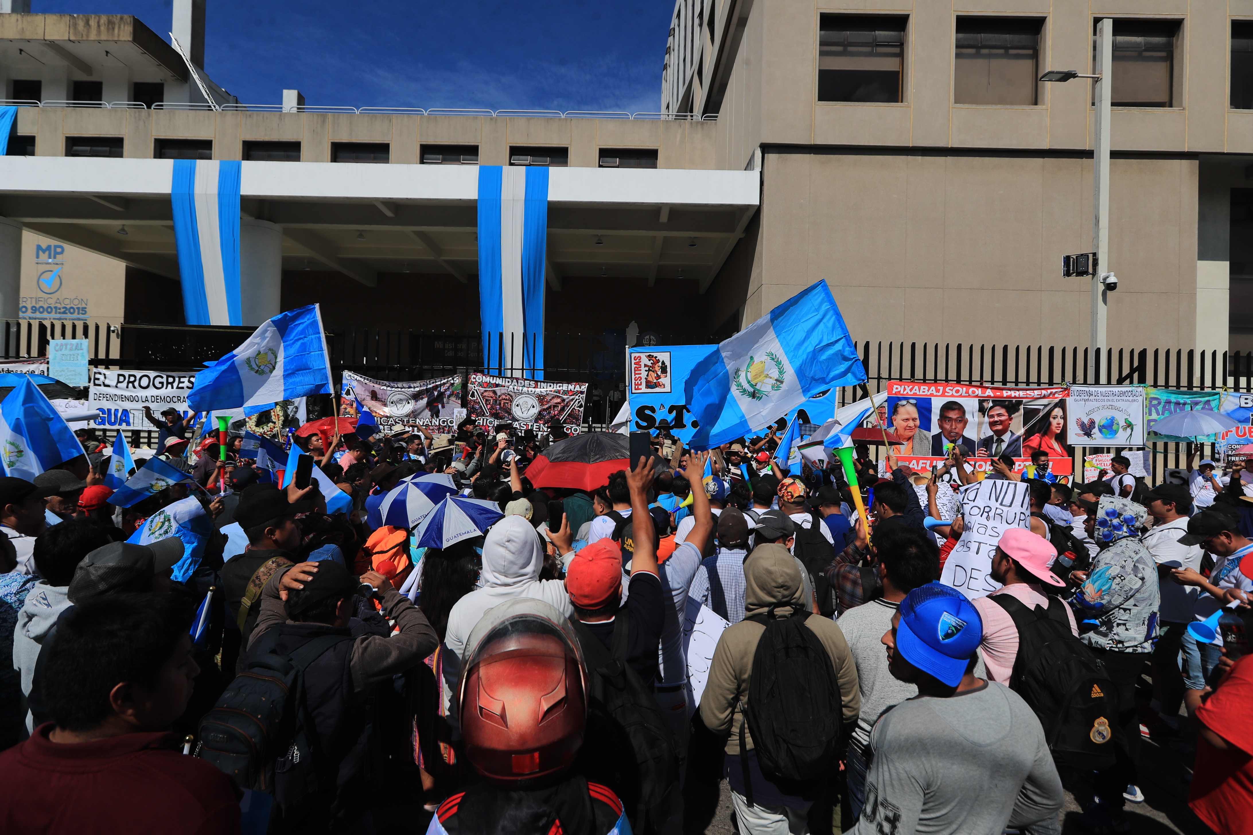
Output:
[[1000,835],[1055,816],[1065,799],[1039,720],[996,682],[901,702],[871,749],[856,835]]

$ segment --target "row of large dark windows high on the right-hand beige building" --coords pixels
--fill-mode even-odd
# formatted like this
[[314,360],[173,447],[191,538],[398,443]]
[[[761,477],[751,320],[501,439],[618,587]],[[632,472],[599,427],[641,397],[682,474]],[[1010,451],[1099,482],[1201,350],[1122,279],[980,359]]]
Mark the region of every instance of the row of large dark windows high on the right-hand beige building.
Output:
[[[903,101],[908,21],[906,15],[822,15],[818,101]],[[1039,103],[1044,19],[960,16],[956,24],[955,104]],[[1115,108],[1182,106],[1175,66],[1182,26],[1179,20],[1114,20]],[[1230,106],[1253,110],[1253,21],[1232,21],[1230,51]]]

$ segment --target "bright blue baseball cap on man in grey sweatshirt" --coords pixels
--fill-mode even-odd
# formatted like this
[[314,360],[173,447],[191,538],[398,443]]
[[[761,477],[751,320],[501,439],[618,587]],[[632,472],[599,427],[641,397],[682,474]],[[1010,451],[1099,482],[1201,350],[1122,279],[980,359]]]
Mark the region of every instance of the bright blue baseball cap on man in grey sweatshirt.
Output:
[[984,621],[966,596],[951,586],[930,582],[901,601],[896,650],[922,672],[950,686],[966,675],[966,665],[984,640]]

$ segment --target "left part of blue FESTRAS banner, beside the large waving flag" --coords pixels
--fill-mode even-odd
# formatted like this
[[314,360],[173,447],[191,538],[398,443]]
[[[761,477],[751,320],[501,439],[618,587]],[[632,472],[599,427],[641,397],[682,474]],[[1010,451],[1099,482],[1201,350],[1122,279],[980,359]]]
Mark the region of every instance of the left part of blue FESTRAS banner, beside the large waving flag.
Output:
[[670,433],[687,443],[699,428],[692,421],[683,384],[692,367],[718,346],[654,346],[632,348],[629,356],[630,414],[633,429],[655,429],[669,421]]

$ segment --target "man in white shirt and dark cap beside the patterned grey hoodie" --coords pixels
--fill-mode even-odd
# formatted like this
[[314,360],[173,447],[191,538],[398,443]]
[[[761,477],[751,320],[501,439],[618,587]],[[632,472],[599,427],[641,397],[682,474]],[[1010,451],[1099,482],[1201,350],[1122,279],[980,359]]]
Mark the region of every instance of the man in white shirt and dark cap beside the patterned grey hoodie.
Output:
[[1153,527],[1140,537],[1140,542],[1158,563],[1160,608],[1158,610],[1158,643],[1153,650],[1153,702],[1172,730],[1179,729],[1179,705],[1183,704],[1183,672],[1179,670],[1179,652],[1183,635],[1192,622],[1192,610],[1200,590],[1182,586],[1172,573],[1175,568],[1200,571],[1204,552],[1199,545],[1183,545],[1179,538],[1188,533],[1192,516],[1192,492],[1183,484],[1159,484],[1144,496],[1144,506],[1153,517]]

